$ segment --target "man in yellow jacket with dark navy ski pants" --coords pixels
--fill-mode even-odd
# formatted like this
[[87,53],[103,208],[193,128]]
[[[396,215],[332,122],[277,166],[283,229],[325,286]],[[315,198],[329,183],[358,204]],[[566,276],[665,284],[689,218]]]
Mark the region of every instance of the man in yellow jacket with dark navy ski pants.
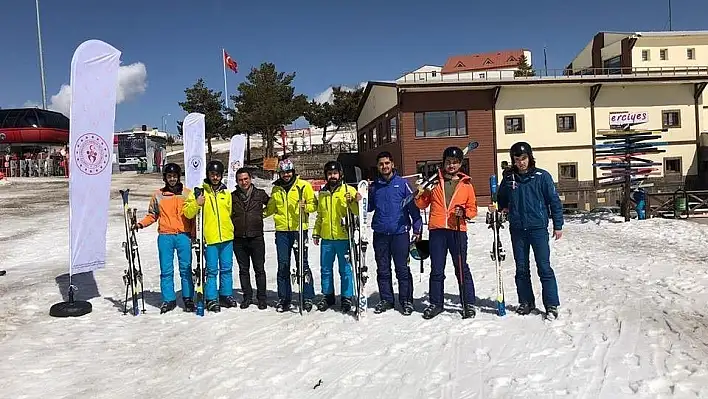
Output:
[[[300,212],[303,214],[303,241],[298,248],[303,252],[303,272],[305,286],[300,287],[303,295],[304,310],[312,310],[312,300],[315,298],[315,288],[312,285],[312,271],[307,261],[308,219],[317,207],[317,199],[312,185],[300,179],[295,174],[295,166],[290,159],[284,159],[278,164],[280,178],[273,182],[273,190],[263,217],[273,216],[275,222],[275,247],[278,253],[278,303],[275,310],[285,312],[290,310],[292,302],[292,284],[290,281],[290,251],[299,239]],[[302,201],[299,201],[302,192]],[[298,253],[295,253],[295,263],[299,265]]]

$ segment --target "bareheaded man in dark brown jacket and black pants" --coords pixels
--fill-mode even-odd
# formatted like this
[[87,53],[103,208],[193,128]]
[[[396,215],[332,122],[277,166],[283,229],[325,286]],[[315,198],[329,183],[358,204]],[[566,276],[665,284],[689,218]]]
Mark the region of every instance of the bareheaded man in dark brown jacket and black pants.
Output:
[[251,183],[251,173],[244,168],[236,171],[238,186],[231,192],[231,220],[234,224],[234,254],[238,262],[238,277],[243,290],[241,309],[253,303],[251,261],[256,273],[258,309],[266,309],[265,240],[263,239],[263,211],[270,197]]

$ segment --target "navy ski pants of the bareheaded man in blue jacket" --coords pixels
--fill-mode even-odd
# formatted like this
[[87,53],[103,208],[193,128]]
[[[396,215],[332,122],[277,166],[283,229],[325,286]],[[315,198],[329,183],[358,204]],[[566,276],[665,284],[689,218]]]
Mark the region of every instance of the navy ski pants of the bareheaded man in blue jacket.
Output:
[[393,276],[391,275],[391,258],[395,265],[398,280],[398,301],[413,302],[413,274],[408,266],[408,233],[381,234],[374,233],[374,256],[376,258],[376,280],[379,285],[379,296],[382,301],[395,303],[393,298]]

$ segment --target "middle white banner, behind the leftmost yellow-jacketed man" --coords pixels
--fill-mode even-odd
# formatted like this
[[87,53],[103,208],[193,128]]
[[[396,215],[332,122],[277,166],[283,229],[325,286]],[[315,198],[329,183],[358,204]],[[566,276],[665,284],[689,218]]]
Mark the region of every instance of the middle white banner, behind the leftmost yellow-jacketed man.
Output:
[[201,187],[206,178],[205,131],[204,114],[192,112],[184,118],[182,122],[184,183],[190,190]]

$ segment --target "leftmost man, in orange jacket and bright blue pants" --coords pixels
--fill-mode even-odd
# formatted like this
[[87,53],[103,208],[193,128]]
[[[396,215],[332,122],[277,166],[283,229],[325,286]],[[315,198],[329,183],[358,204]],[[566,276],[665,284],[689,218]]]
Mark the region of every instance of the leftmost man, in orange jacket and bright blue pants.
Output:
[[182,213],[182,206],[189,189],[179,181],[182,168],[168,163],[162,172],[165,187],[157,190],[150,199],[148,213],[133,229],[143,229],[158,222],[157,251],[160,257],[160,291],[162,305],[160,314],[177,306],[174,286],[174,253],[177,251],[179,276],[182,281],[184,310],[194,312],[194,282],[192,281],[192,220]]

